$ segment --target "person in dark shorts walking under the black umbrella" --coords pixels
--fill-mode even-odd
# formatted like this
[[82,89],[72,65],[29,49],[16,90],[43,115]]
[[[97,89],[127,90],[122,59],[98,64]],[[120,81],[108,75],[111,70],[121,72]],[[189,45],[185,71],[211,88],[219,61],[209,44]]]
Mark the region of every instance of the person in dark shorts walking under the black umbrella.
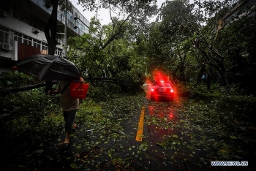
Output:
[[[72,129],[76,129],[77,125],[74,123],[75,114],[79,107],[79,99],[73,99],[70,96],[69,83],[71,81],[61,81],[58,88],[53,91],[49,90],[48,94],[61,94],[60,105],[63,110],[63,117],[65,121],[64,129],[66,137],[64,142],[59,143],[63,149],[69,148],[69,139],[72,133]],[[75,82],[75,81],[74,81]],[[83,77],[80,77],[80,82],[83,82]]]

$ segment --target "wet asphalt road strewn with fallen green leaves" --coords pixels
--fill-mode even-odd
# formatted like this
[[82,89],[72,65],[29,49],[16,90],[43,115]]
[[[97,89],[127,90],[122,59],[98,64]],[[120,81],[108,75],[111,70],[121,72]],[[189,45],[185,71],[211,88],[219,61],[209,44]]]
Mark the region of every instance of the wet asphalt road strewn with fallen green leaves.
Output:
[[[175,96],[173,102],[165,99],[151,102],[148,94],[138,96],[138,102],[132,98],[122,99],[118,110],[113,109],[119,105],[118,100],[106,102],[103,113],[113,110],[116,114],[107,118],[102,127],[80,124],[68,150],[57,145],[64,140],[64,132],[45,140],[43,152],[20,159],[21,163],[27,161],[32,166],[29,169],[20,166],[18,170],[253,170],[252,167],[211,167],[212,160],[221,159],[211,148],[216,144],[211,140],[217,137],[184,115],[184,99]],[[108,103],[112,107],[108,108]],[[137,141],[143,112],[142,140]],[[251,158],[239,160],[255,157],[253,153],[250,155]]]

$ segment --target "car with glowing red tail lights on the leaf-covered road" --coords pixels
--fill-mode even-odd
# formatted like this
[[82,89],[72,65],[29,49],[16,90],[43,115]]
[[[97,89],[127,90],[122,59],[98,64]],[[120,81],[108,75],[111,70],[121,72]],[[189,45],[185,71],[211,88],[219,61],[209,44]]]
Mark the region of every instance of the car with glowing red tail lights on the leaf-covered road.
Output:
[[150,99],[151,101],[157,101],[160,98],[165,98],[169,101],[173,101],[173,94],[174,90],[170,81],[154,81],[151,86]]

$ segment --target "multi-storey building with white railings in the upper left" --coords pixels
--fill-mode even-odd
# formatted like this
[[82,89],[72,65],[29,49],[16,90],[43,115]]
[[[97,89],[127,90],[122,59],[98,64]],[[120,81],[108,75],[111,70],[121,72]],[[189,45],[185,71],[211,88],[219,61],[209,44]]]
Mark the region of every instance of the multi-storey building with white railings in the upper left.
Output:
[[[26,56],[48,54],[44,27],[52,7],[44,0],[4,0],[0,6],[0,72],[10,72],[10,65]],[[58,45],[55,55],[61,56],[64,46],[66,12],[58,7]],[[88,33],[87,20],[72,5],[67,10],[67,37]]]

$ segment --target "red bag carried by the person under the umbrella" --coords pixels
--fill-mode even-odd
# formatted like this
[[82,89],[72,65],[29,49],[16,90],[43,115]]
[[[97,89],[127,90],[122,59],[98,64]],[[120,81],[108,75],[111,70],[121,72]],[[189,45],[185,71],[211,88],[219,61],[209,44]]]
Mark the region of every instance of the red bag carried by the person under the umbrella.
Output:
[[70,83],[70,96],[73,99],[85,99],[89,83]]

